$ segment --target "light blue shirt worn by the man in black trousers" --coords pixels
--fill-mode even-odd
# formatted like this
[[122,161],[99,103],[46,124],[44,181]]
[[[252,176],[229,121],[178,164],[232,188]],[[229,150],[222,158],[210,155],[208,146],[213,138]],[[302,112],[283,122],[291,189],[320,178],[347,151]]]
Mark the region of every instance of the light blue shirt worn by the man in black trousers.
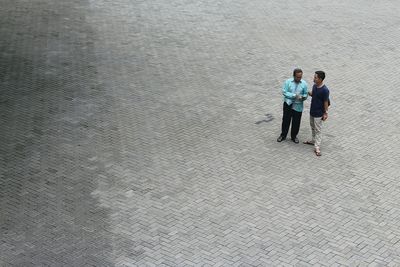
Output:
[[[283,101],[289,106],[293,104],[292,109],[298,112],[302,112],[304,105],[304,100],[307,99],[308,89],[307,83],[302,79],[299,83],[296,83],[293,78],[287,79],[283,85],[282,89]],[[296,99],[296,94],[299,94],[303,99]]]

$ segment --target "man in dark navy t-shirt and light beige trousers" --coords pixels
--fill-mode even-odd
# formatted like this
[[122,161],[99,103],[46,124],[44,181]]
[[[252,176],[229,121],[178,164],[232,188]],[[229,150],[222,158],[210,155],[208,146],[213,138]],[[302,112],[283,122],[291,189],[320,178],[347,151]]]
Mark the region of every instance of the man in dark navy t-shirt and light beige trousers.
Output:
[[321,156],[321,129],[324,121],[328,119],[329,89],[324,84],[325,72],[316,71],[314,74],[314,85],[308,94],[312,97],[310,107],[310,125],[312,140],[304,144],[314,145],[315,155]]

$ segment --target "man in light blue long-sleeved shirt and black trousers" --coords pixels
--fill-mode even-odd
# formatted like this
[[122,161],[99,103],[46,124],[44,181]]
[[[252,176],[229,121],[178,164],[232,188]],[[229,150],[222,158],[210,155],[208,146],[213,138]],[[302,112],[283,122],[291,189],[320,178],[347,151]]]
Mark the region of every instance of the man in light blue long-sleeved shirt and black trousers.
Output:
[[283,117],[282,117],[282,131],[278,137],[278,142],[286,139],[289,132],[290,122],[292,129],[290,135],[292,141],[296,144],[299,143],[297,134],[300,129],[301,114],[303,113],[303,102],[307,99],[308,90],[307,83],[302,79],[303,71],[301,69],[294,69],[293,78],[287,79],[283,85]]

